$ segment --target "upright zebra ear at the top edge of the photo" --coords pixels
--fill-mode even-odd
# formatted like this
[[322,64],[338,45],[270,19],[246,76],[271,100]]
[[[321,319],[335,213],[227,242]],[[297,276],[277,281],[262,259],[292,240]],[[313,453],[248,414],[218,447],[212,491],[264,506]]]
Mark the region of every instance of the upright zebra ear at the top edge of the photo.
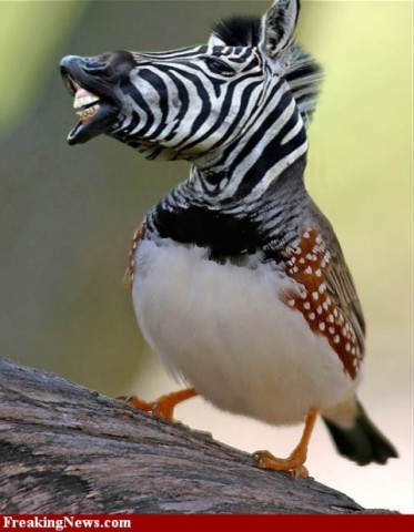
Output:
[[290,43],[299,10],[300,0],[275,0],[264,14],[260,47],[267,57],[274,58]]

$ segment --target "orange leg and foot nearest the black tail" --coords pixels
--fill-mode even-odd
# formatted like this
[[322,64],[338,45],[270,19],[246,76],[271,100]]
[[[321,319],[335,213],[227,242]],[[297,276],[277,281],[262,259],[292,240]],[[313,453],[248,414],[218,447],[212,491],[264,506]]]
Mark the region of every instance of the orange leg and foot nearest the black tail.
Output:
[[275,458],[269,451],[258,451],[253,454],[255,466],[261,469],[272,469],[275,471],[289,471],[295,479],[307,477],[307,469],[303,466],[306,461],[307,446],[312,436],[313,428],[319,415],[319,410],[311,410],[306,418],[305,428],[297,447],[292,451],[289,458]]

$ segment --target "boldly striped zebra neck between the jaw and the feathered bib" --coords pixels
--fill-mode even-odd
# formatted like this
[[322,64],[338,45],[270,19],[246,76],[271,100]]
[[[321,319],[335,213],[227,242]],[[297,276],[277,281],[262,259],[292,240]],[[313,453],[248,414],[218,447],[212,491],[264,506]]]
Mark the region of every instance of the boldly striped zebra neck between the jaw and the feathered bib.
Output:
[[189,192],[211,205],[260,202],[291,166],[305,160],[306,152],[296,102],[280,81],[235,141],[194,161]]

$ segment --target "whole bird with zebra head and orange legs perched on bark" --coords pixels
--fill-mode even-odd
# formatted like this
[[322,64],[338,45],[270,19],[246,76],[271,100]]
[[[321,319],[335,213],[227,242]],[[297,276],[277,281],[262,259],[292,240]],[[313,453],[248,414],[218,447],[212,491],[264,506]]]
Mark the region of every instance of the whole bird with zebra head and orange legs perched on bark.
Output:
[[147,215],[129,277],[141,329],[190,388],[131,403],[172,419],[200,393],[271,424],[305,421],[287,459],[304,477],[322,415],[341,454],[385,463],[394,447],[356,398],[365,325],[333,228],[304,186],[306,127],[321,69],[294,40],[297,0],[215,25],[206,45],[69,55],[61,72],[79,124],[69,143],[109,136],[190,176]]

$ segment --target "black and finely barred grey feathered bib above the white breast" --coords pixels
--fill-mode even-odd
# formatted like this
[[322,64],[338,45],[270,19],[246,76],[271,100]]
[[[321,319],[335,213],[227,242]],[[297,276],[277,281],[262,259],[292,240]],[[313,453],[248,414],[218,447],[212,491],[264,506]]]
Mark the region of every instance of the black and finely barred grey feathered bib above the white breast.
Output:
[[[210,259],[253,266],[282,259],[296,237],[311,200],[303,183],[302,157],[256,201],[218,203],[188,181],[178,185],[147,218],[151,238],[171,238],[208,249]],[[199,182],[202,183],[202,182]],[[251,258],[253,263],[250,263]]]

